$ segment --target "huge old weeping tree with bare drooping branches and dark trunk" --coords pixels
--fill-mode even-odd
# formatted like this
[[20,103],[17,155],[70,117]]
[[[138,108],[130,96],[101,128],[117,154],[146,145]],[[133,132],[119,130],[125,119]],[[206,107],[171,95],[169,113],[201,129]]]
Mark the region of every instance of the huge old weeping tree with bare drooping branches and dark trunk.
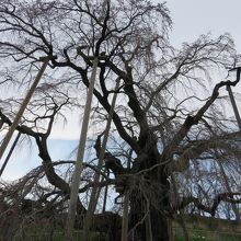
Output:
[[[238,202],[240,183],[231,185],[230,180],[240,170],[240,131],[220,103],[222,90],[234,87],[239,74],[229,81],[216,74],[225,77],[222,70],[236,62],[233,42],[228,34],[215,39],[203,35],[175,49],[169,42],[171,26],[167,5],[147,0],[1,0],[0,88],[20,90],[0,99],[4,128],[19,108],[21,91],[26,91],[41,67],[38,58],[58,57],[49,62],[18,126],[18,131],[35,139],[43,165],[18,184],[21,194],[5,186],[1,196],[22,195],[25,200],[38,188],[34,202],[42,209],[68,200],[69,175],[60,174],[66,169],[57,171],[57,167],[72,162],[54,162],[47,139],[53,125],[68,122],[67,108],[82,112],[93,57],[101,57],[90,126],[99,135],[93,154],[100,154],[102,123],[120,80],[105,179],[99,185],[114,185],[120,197],[129,194],[129,239],[167,241],[168,219],[181,210],[215,216],[221,200]],[[85,163],[84,170],[80,193],[92,186],[94,162]],[[44,175],[51,188],[37,184]],[[78,214],[85,214],[84,206],[80,195]]]

